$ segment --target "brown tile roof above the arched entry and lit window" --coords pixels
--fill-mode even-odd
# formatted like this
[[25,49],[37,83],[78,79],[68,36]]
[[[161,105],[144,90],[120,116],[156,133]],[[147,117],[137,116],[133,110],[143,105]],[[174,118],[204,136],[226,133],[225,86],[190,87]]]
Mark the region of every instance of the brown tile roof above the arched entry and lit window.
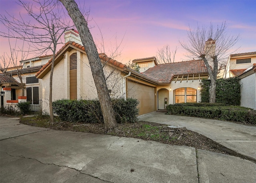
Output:
[[172,81],[175,75],[200,73],[208,73],[203,60],[158,64],[155,67],[146,70],[143,75],[154,79],[159,83],[167,83]]

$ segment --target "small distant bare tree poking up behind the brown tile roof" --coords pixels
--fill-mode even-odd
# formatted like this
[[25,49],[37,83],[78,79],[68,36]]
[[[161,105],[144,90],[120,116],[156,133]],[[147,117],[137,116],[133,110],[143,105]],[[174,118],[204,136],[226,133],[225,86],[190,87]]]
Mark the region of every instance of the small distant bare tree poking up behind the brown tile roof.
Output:
[[178,47],[175,50],[170,51],[169,45],[164,45],[164,47],[157,49],[156,58],[158,63],[172,63],[175,60],[175,55]]

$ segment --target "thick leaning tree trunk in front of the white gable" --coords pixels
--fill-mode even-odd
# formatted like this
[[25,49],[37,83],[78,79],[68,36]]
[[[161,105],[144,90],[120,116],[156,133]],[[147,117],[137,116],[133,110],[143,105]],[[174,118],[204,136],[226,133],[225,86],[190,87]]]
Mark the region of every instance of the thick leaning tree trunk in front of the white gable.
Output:
[[74,0],[60,1],[67,9],[69,16],[72,18],[80,34],[92,70],[92,77],[94,79],[94,83],[97,89],[105,128],[106,130],[110,130],[117,125],[116,118],[114,115],[114,109],[110,100],[110,96],[108,94],[108,88],[106,85],[100,57],[98,55],[96,45],[88,28],[88,23],[85,20],[84,16],[82,16]]

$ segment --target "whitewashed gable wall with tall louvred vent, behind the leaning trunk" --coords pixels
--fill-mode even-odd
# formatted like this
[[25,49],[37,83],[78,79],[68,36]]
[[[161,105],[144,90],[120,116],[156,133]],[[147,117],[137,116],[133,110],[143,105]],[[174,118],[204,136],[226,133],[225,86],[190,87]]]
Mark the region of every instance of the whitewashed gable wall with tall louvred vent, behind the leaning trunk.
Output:
[[[64,58],[54,67],[52,101],[62,98],[70,98],[69,58],[72,53],[77,53],[77,98],[98,98],[88,57],[85,53],[72,49],[70,52],[66,51]],[[104,73],[105,77],[108,77],[106,82],[108,89],[111,90],[110,96],[112,98],[123,96],[123,77],[121,71],[109,65],[105,65]],[[47,112],[49,111],[49,81],[50,72],[47,73],[42,79],[43,110],[46,110]]]

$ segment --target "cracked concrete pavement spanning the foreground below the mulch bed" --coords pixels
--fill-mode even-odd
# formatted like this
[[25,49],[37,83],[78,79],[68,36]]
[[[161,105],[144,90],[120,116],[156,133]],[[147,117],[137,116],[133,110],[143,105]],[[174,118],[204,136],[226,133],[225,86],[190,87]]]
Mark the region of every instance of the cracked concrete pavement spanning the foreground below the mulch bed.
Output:
[[255,170],[251,161],[220,153],[0,116],[1,183],[255,183]]

